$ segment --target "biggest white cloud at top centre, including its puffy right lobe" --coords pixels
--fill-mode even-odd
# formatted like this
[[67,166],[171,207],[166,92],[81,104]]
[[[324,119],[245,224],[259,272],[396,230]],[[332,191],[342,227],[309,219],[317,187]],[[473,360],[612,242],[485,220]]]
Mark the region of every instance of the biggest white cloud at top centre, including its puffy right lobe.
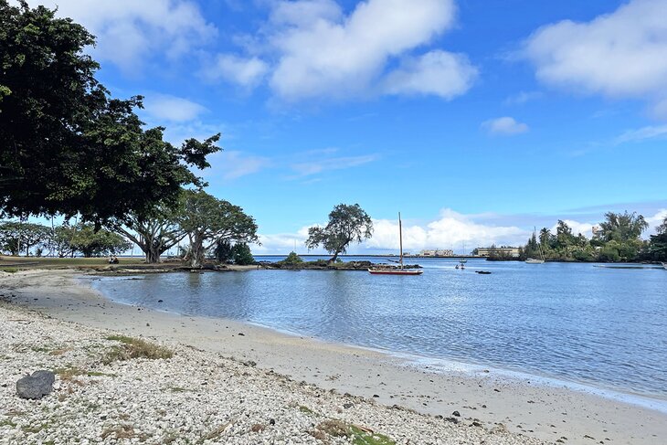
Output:
[[[261,26],[262,42],[252,45],[262,48],[270,64],[256,56],[234,56],[239,63],[228,64],[220,79],[234,80],[245,68],[240,61],[252,60],[269,70],[267,81],[276,96],[302,101],[377,94],[451,99],[469,90],[477,76],[464,55],[442,49],[413,54],[451,28],[453,0],[366,0],[348,14],[333,0],[272,5],[269,21]],[[391,64],[399,68],[387,72]]]

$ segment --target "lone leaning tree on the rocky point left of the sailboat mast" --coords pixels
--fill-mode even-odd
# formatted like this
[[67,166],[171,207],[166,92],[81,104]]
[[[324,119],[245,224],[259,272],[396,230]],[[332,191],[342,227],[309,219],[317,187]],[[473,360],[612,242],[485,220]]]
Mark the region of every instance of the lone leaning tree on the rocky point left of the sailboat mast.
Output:
[[360,243],[373,236],[373,221],[365,211],[355,205],[339,204],[329,214],[329,223],[324,228],[308,229],[306,247],[315,249],[322,247],[334,254],[329,262],[334,262],[338,255],[345,253],[352,242]]

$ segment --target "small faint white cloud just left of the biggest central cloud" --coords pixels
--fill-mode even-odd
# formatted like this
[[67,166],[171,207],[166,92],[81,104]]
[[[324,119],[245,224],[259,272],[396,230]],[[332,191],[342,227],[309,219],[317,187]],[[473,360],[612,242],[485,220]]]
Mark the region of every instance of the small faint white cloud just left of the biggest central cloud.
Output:
[[202,69],[202,76],[211,82],[225,79],[251,88],[261,81],[268,69],[269,65],[257,57],[239,58],[232,54],[218,54],[212,64]]

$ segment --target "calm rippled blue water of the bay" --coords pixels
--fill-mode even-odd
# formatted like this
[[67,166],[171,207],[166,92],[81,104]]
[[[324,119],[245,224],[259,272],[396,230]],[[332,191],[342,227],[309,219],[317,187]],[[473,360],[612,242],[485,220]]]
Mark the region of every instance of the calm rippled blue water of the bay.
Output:
[[95,286],[118,302],[667,399],[667,270],[409,262],[424,274],[252,270]]

